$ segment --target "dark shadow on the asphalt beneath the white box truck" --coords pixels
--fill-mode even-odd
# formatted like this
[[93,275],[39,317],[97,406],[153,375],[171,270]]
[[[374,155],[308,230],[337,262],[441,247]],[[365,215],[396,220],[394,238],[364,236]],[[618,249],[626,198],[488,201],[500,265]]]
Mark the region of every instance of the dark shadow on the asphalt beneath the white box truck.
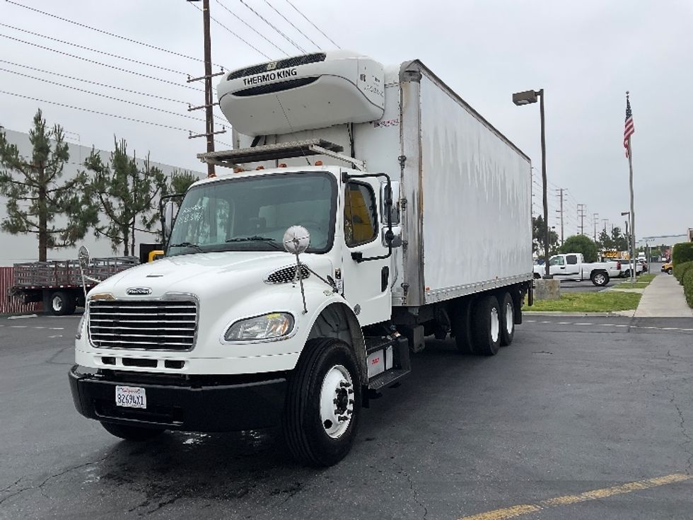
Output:
[[[144,443],[116,441],[100,463],[100,485],[144,495],[129,509],[144,514],[188,498],[241,504],[250,495],[253,502],[262,499],[276,506],[310,483],[372,468],[374,456],[381,461],[396,458],[407,435],[425,436],[439,420],[436,402],[450,390],[446,381],[465,379],[479,364],[491,361],[460,354],[452,340],[427,340],[426,345],[414,356],[412,376],[364,410],[354,449],[337,466],[298,466],[289,457],[279,429],[167,432]],[[463,395],[455,399],[464,405]]]

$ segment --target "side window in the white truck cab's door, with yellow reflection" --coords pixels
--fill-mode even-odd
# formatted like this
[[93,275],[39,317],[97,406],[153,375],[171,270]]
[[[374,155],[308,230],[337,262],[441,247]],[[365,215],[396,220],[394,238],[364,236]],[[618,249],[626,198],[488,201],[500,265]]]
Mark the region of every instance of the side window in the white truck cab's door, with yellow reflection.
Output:
[[344,188],[344,240],[349,247],[371,242],[378,236],[378,212],[373,189],[349,182]]

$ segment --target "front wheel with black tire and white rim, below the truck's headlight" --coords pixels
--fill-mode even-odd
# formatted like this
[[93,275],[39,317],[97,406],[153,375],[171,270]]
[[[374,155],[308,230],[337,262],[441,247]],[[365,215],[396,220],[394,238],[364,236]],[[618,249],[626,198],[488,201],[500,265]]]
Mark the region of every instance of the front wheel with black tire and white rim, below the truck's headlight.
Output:
[[361,380],[354,352],[334,338],[305,344],[289,379],[282,420],[291,455],[308,466],[347,456],[361,418]]

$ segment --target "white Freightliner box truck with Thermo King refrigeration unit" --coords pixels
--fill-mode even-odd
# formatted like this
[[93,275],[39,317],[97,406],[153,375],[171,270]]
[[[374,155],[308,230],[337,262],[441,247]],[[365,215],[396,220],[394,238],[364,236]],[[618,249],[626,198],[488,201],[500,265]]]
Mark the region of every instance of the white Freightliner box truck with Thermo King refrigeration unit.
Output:
[[217,92],[234,148],[166,204],[164,258],[89,292],[74,403],[132,440],[277,424],[328,466],[426,336],[512,342],[530,159],[417,60],[318,52]]

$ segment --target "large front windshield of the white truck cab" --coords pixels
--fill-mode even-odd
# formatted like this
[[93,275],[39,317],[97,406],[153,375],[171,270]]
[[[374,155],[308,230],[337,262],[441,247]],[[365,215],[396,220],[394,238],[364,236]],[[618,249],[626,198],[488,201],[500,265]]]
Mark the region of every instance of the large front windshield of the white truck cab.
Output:
[[326,172],[220,180],[185,195],[166,255],[284,250],[289,226],[310,231],[308,253],[332,248],[337,182]]

